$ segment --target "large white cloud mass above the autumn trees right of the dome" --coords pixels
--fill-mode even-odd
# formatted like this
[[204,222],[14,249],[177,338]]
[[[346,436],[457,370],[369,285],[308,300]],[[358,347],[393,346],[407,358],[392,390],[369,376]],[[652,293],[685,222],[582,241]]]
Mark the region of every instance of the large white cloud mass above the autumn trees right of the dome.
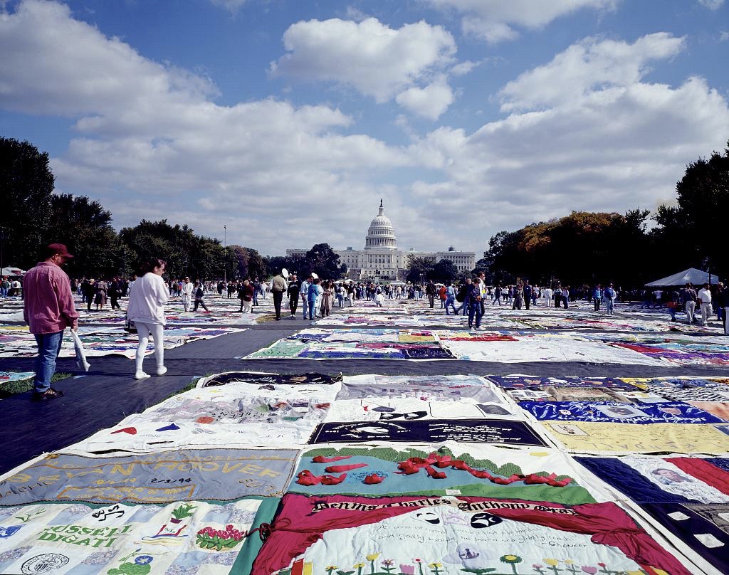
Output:
[[[424,233],[445,241],[461,234],[444,222],[459,222],[486,228],[483,246],[497,230],[570,209],[622,213],[671,200],[687,163],[723,149],[729,133],[728,102],[705,79],[644,82],[647,60],[680,47],[667,35],[580,42],[504,87],[508,117],[475,133],[439,128],[416,141],[418,162],[443,173],[411,188]],[[574,52],[600,56],[566,57]],[[623,57],[608,56],[616,53]]]

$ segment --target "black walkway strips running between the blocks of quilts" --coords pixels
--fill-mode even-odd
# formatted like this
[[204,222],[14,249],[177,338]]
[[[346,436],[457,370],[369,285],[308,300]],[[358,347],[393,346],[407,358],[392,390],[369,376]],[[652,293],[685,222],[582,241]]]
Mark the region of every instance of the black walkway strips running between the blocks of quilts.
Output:
[[[346,311],[346,309],[345,309]],[[259,359],[241,361],[245,356],[309,326],[308,321],[282,320],[252,326],[244,332],[200,340],[165,350],[168,372],[163,377],[137,381],[134,362],[120,356],[92,357],[90,372],[55,383],[65,396],[48,402],[32,402],[30,393],[0,401],[0,421],[7,432],[0,438],[0,474],[45,452],[67,447],[100,429],[119,423],[131,413],[157,404],[197,377],[224,371],[277,373],[321,372],[344,375],[379,373],[390,375],[475,374],[506,375],[526,373],[545,376],[582,375],[616,377],[657,377],[679,375],[717,376],[720,366],[690,368],[589,363],[518,363],[484,361],[397,361],[373,359],[304,360]],[[536,331],[536,330],[535,330]],[[0,358],[0,369],[33,371],[31,358]],[[145,369],[154,372],[154,358],[145,359]],[[77,373],[75,359],[60,359],[59,372]]]

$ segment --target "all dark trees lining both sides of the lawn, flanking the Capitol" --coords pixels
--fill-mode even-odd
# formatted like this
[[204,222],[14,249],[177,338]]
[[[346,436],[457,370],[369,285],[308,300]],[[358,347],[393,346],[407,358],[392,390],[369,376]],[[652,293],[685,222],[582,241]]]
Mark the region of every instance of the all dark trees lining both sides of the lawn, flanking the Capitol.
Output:
[[[222,246],[217,238],[195,234],[187,224],[141,220],[119,232],[112,214],[85,196],[54,193],[47,152],[27,141],[0,138],[0,259],[2,265],[28,269],[39,261],[42,246],[60,242],[75,255],[73,277],[129,276],[149,257],[167,261],[173,278],[265,278],[282,267],[321,278],[346,276],[347,268],[327,243],[302,256],[262,256],[246,246]],[[676,186],[677,201],[655,214],[633,209],[625,214],[573,211],[521,230],[502,231],[489,241],[472,273],[486,272],[489,283],[517,278],[547,285],[613,281],[640,286],[683,270],[707,268],[724,277],[729,271],[729,142],[687,166]],[[408,261],[407,281],[459,281],[446,259]]]

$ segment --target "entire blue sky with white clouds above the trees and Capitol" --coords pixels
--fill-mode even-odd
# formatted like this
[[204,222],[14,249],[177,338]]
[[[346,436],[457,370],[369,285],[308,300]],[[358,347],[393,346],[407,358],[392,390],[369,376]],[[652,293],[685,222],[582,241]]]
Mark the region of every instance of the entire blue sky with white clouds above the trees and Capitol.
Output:
[[0,135],[117,228],[483,252],[729,138],[729,0],[0,0]]

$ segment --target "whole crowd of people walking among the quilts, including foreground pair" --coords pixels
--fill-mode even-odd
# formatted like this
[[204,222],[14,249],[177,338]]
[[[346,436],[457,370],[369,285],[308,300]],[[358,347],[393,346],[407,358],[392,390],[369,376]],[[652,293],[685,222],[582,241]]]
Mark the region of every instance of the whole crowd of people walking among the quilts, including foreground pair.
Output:
[[[429,308],[435,308],[436,300],[440,301],[446,315],[462,314],[467,316],[469,329],[481,329],[481,318],[486,313],[486,305],[511,305],[514,310],[529,310],[531,305],[550,308],[569,308],[570,302],[576,298],[591,301],[594,310],[612,315],[616,300],[623,301],[624,294],[620,288],[615,289],[612,283],[602,286],[596,283],[592,288],[582,286],[570,289],[569,286],[537,286],[524,279],[512,285],[487,285],[486,274],[479,273],[474,278],[467,278],[463,283],[446,282],[436,284],[427,282],[424,286],[413,283],[381,284],[375,282],[354,282],[322,280],[315,273],[298,279],[295,273],[289,275],[286,270],[277,273],[270,281],[259,281],[246,278],[242,281],[203,282],[190,281],[190,278],[166,281],[166,263],[162,259],[144,262],[139,275],[131,281],[114,277],[109,281],[84,278],[71,280],[61,267],[73,256],[61,243],[52,243],[45,249],[45,259],[28,270],[23,276],[22,285],[8,278],[0,278],[0,294],[2,297],[23,297],[23,318],[34,334],[38,345],[38,356],[35,364],[34,399],[54,399],[62,396],[50,386],[55,372],[55,363],[61,351],[63,332],[66,327],[72,331],[78,329],[79,313],[75,308],[73,294],[76,292],[87,310],[95,305],[96,310],[103,309],[107,303],[112,309],[121,309],[119,300],[128,297],[126,316],[130,331],[139,334],[139,344],[135,356],[136,379],[151,377],[144,371],[144,355],[147,351],[149,337],[155,347],[156,375],[164,375],[167,368],[164,364],[163,329],[166,324],[165,304],[171,297],[181,297],[185,311],[210,313],[204,302],[206,292],[217,291],[220,296],[237,297],[241,301],[240,312],[252,313],[254,305],[259,305],[258,298],[265,298],[270,293],[276,320],[280,321],[285,306],[289,317],[295,318],[299,304],[304,319],[314,321],[316,318],[329,316],[332,306],[354,305],[355,300],[367,299],[375,305],[383,306],[386,300],[426,299]],[[20,284],[20,281],[17,281]],[[11,292],[10,290],[14,290]],[[663,302],[671,313],[671,320],[678,321],[676,313],[683,310],[689,323],[700,322],[706,325],[714,310],[717,319],[723,321],[724,333],[729,335],[726,317],[729,311],[729,289],[724,283],[715,285],[704,283],[698,291],[691,283],[682,289],[668,289],[643,294],[645,307],[650,300],[653,306]],[[699,317],[701,319],[699,319]]]

